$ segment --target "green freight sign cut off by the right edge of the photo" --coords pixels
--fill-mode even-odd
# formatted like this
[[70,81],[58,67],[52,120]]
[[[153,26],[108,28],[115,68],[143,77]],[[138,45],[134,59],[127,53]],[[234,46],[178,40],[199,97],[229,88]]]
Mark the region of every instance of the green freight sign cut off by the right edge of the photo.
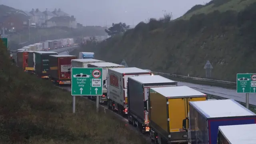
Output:
[[237,93],[256,93],[256,74],[236,74]]

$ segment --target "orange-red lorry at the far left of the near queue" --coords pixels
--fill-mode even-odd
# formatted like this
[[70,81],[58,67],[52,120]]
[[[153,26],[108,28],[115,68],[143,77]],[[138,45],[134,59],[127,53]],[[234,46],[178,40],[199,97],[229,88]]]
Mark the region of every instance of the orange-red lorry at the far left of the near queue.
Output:
[[25,68],[28,67],[28,51],[17,52],[17,66],[26,71]]

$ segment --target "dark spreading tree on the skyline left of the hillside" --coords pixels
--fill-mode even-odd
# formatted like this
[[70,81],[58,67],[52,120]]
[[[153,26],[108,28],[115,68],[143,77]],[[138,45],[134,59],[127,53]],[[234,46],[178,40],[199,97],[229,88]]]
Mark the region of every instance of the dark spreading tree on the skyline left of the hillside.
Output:
[[105,32],[108,33],[109,36],[114,36],[116,34],[124,33],[128,28],[130,28],[130,26],[122,22],[117,24],[112,23],[112,27],[108,28],[108,30],[105,29]]

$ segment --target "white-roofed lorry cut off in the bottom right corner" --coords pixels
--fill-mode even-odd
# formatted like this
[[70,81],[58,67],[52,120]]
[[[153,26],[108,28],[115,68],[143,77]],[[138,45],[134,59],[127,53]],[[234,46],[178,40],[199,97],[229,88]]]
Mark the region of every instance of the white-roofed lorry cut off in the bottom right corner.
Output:
[[217,144],[256,144],[256,124],[219,126]]

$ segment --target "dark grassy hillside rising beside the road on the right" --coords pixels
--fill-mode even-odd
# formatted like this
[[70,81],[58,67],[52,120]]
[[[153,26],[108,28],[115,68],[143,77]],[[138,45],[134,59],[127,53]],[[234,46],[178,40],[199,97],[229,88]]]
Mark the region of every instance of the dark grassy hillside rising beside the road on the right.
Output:
[[205,76],[210,60],[213,78],[235,81],[236,73],[256,69],[255,17],[256,0],[213,0],[171,22],[141,22],[84,51],[101,60],[125,59],[128,66],[195,77]]

